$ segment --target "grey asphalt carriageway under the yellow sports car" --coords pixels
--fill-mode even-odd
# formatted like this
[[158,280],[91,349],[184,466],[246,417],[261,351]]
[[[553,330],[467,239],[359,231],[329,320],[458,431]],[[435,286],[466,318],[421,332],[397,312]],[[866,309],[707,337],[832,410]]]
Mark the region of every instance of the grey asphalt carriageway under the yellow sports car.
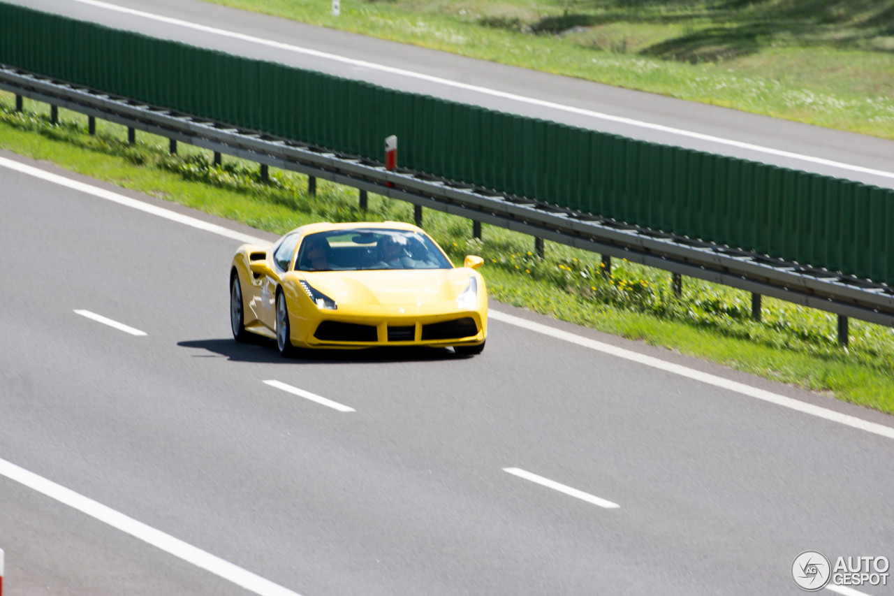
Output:
[[[285,362],[272,345],[230,339],[238,242],[6,169],[0,179],[0,251],[15,278],[0,290],[0,459],[278,585],[306,596],[797,593],[789,566],[802,550],[894,555],[890,438],[499,321],[472,359]],[[3,477],[0,494],[7,593],[245,593]]]

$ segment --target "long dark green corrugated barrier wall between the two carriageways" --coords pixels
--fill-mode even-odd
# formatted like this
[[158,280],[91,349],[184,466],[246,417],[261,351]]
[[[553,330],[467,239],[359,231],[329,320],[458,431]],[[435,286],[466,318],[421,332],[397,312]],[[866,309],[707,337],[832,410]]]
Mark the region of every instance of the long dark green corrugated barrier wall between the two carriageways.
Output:
[[894,191],[0,4],[0,62],[190,115],[894,285]]

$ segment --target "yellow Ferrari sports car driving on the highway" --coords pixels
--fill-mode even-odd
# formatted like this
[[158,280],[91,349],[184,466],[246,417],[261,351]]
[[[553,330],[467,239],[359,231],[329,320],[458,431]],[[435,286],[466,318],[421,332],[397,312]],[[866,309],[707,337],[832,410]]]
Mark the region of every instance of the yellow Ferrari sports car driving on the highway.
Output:
[[452,346],[481,353],[487,337],[484,260],[454,267],[417,226],[311,224],[232,259],[232,335],[295,348]]

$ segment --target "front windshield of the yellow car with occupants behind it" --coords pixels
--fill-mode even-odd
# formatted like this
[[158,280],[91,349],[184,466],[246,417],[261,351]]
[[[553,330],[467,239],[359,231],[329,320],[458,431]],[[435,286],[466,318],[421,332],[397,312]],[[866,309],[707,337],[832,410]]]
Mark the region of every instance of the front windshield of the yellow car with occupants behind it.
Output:
[[452,265],[426,234],[354,228],[309,234],[301,242],[299,271],[449,269]]

